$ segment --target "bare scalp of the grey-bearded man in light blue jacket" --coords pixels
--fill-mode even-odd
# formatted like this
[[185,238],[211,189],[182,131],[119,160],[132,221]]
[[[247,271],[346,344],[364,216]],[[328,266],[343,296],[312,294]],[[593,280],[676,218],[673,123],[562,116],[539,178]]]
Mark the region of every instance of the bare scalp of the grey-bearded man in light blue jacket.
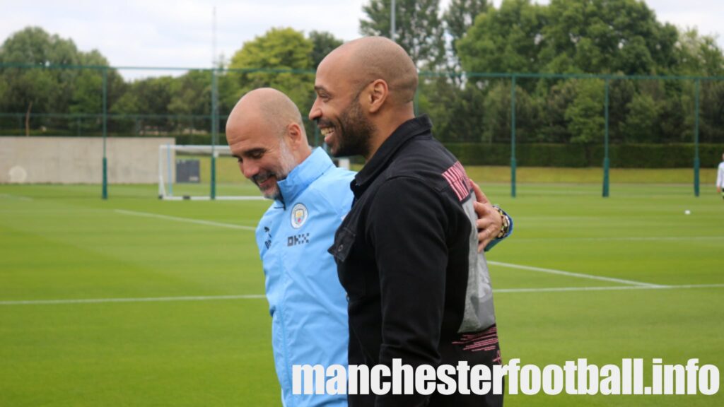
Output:
[[229,115],[227,128],[230,125],[243,125],[249,119],[263,120],[273,129],[272,133],[279,137],[285,134],[291,123],[296,123],[304,131],[297,105],[274,88],[258,88],[246,93]]

